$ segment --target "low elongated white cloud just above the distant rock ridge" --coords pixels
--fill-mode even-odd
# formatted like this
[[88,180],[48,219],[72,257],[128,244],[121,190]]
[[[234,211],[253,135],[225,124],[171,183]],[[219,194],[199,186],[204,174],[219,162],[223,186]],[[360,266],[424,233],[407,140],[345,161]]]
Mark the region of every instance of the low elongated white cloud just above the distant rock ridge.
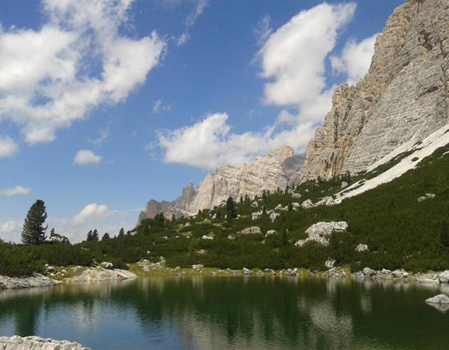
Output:
[[311,122],[277,133],[276,127],[267,127],[264,132],[234,134],[227,120],[226,113],[215,113],[192,127],[159,134],[158,146],[165,151],[164,161],[214,169],[227,163],[247,163],[267,149],[284,144],[305,148],[313,134]]

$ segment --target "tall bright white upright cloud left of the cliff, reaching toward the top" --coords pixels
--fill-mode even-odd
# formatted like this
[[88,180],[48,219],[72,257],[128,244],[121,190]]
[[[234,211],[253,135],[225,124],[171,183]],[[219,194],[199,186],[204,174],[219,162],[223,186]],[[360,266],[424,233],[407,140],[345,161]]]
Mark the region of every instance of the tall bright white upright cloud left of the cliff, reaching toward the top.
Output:
[[320,4],[301,11],[269,36],[259,52],[265,100],[274,105],[308,105],[326,88],[325,60],[338,30],[354,16],[356,4]]

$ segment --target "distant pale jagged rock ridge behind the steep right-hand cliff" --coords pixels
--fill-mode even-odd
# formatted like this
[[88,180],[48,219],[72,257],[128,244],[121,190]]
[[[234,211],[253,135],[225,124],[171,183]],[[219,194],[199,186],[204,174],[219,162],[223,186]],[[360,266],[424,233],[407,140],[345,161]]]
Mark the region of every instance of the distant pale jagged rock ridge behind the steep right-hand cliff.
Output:
[[158,202],[151,199],[141,211],[139,222],[153,218],[163,212],[165,216],[197,214],[199,209],[219,206],[228,197],[238,199],[261,195],[264,190],[275,191],[301,181],[299,170],[305,156],[294,155],[293,148],[281,146],[257,157],[250,164],[225,165],[209,173],[197,189],[192,182],[182,190],[182,195],[173,202]]

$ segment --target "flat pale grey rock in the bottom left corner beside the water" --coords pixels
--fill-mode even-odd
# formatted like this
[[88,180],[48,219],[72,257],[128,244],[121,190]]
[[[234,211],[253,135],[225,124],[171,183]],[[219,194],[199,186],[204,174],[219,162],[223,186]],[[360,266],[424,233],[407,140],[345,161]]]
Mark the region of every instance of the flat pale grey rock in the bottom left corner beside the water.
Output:
[[1,350],[90,350],[81,344],[66,340],[40,337],[0,337]]

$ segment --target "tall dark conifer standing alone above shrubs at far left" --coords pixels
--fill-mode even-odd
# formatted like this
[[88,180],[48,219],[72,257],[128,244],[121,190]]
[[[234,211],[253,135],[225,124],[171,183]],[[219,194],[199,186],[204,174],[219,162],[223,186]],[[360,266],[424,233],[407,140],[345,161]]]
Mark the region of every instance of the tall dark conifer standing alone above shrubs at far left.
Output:
[[47,220],[47,211],[45,211],[44,201],[37,199],[28,211],[23,223],[22,242],[23,244],[38,245],[44,243],[47,239],[45,231],[48,226],[43,226]]

